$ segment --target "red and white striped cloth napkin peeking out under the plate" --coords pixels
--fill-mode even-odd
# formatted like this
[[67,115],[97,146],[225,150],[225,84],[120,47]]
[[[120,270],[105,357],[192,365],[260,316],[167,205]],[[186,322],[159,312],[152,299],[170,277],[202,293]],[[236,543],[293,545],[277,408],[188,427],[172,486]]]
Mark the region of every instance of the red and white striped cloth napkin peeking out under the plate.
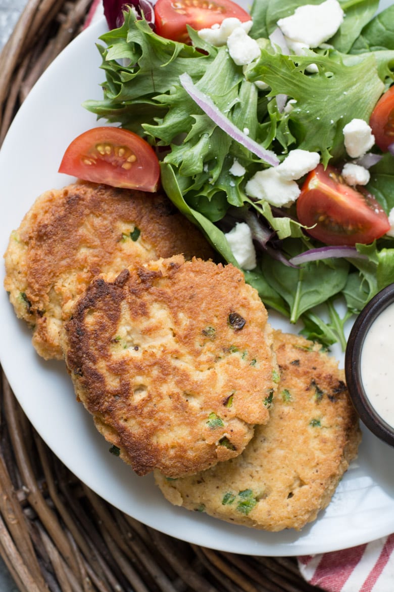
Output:
[[[103,17],[94,0],[85,27]],[[298,557],[302,576],[327,592],[394,592],[394,535],[344,551]]]

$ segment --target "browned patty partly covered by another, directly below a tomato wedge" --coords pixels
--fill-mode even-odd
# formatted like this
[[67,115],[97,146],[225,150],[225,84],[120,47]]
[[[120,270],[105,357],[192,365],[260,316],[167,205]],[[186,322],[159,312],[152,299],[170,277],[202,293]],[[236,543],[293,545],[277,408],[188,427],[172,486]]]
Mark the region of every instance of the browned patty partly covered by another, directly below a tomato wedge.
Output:
[[107,185],[47,191],[14,231],[5,253],[5,288],[18,317],[34,327],[43,358],[61,358],[59,330],[69,308],[100,272],[213,250],[171,202]]

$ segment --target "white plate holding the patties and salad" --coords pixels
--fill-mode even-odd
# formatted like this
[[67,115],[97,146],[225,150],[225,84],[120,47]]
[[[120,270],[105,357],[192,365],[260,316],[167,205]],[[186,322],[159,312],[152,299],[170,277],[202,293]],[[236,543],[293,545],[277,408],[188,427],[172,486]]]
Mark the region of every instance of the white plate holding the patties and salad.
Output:
[[[73,180],[57,169],[70,141],[97,124],[81,104],[102,98],[104,75],[95,43],[105,30],[102,19],[80,34],[47,69],[12,123],[0,152],[2,253],[35,198]],[[137,477],[108,452],[91,417],[76,402],[64,363],[41,359],[5,291],[0,302],[0,359],[19,403],[58,458],[119,510],[179,539],[250,555],[334,551],[394,532],[394,450],[370,433],[364,434],[359,459],[338,485],[330,506],[301,533],[261,532],[171,506],[152,475]],[[271,321],[295,330],[275,315]]]

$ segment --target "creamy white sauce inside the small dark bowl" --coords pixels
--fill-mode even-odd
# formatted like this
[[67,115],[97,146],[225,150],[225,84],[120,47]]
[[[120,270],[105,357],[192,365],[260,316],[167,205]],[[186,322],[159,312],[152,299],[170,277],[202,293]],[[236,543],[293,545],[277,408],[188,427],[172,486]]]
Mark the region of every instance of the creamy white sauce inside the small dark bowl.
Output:
[[364,338],[360,372],[370,404],[394,427],[394,303],[379,314]]

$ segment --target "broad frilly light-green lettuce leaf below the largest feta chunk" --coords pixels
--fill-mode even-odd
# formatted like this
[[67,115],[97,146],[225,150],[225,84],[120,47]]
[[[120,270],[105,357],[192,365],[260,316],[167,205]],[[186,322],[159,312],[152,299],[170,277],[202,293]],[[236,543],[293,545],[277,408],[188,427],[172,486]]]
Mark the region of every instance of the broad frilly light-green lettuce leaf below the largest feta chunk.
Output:
[[[312,63],[319,71],[307,76],[304,70]],[[282,117],[292,130],[288,149],[295,139],[298,148],[321,152],[324,165],[331,157],[346,155],[343,127],[355,117],[368,121],[384,88],[373,54],[344,66],[329,54],[299,57],[262,50],[261,59],[248,70],[248,79],[266,82],[270,95],[285,94],[297,101]]]

